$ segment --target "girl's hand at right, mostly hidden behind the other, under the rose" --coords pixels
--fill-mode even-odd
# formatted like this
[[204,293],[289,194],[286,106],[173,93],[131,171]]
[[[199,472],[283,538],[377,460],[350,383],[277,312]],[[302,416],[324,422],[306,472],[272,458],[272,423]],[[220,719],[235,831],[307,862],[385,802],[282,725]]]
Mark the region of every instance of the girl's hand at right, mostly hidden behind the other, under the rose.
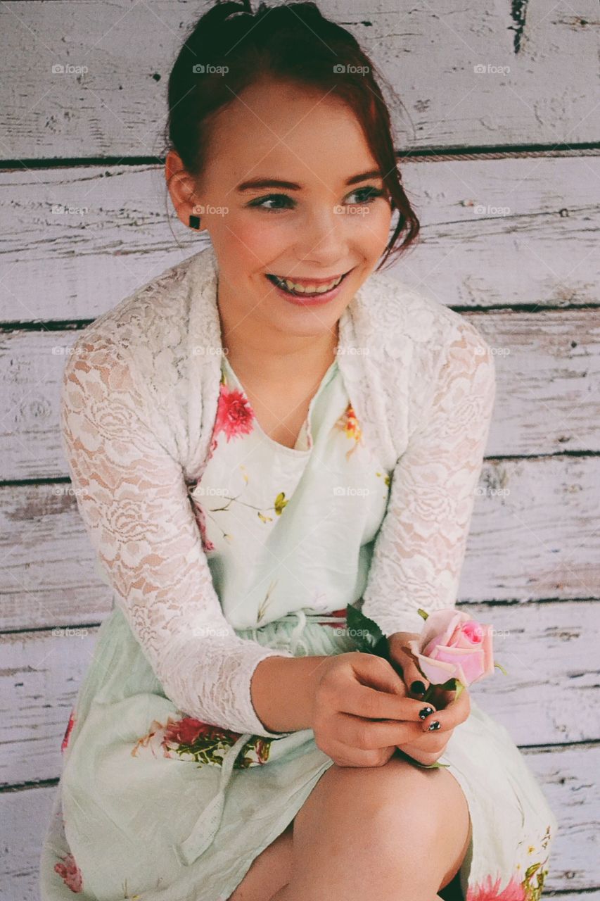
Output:
[[[423,701],[423,703],[433,708],[432,713],[423,720],[423,735],[419,736],[415,742],[398,744],[397,747],[419,763],[431,764],[441,757],[454,728],[460,723],[464,723],[471,707],[467,688],[463,688],[457,698],[456,691],[448,691],[432,685],[427,678],[423,677],[420,670],[417,669],[416,660],[408,650],[406,643],[418,637],[418,633],[399,632],[390,635],[387,640],[390,662],[392,666],[400,669],[400,675],[405,682],[409,696],[412,693],[414,696],[420,697],[422,701],[426,696],[427,701]],[[423,683],[424,692],[411,692],[410,687],[415,681]],[[430,732],[429,725],[436,720],[440,724],[440,728]]]

